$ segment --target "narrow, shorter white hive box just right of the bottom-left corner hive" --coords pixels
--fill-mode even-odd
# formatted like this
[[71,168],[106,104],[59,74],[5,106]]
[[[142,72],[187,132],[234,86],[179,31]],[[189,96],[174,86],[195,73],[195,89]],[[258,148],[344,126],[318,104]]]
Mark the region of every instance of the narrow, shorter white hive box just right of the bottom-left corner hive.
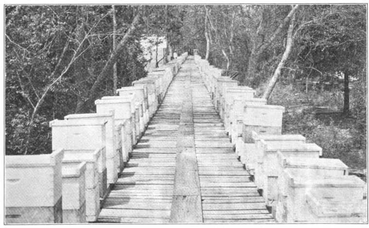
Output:
[[63,163],[63,223],[86,222],[86,162]]

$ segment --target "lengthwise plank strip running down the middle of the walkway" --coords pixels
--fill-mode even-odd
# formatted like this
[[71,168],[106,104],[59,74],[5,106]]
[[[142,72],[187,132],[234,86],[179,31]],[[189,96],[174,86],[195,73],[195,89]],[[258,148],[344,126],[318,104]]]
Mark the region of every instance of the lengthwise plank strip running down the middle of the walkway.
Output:
[[179,93],[185,96],[176,143],[175,196],[169,220],[171,223],[202,222],[200,186],[193,140],[193,102],[190,83],[191,77],[187,77],[184,87],[179,90]]

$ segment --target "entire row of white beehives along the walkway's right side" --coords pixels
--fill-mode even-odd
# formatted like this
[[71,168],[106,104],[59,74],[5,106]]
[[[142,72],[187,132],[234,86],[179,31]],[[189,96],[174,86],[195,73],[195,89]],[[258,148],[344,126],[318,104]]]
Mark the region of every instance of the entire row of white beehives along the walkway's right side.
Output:
[[266,105],[255,90],[221,76],[195,54],[237,157],[277,222],[367,222],[366,183],[302,135],[282,135],[284,107]]

